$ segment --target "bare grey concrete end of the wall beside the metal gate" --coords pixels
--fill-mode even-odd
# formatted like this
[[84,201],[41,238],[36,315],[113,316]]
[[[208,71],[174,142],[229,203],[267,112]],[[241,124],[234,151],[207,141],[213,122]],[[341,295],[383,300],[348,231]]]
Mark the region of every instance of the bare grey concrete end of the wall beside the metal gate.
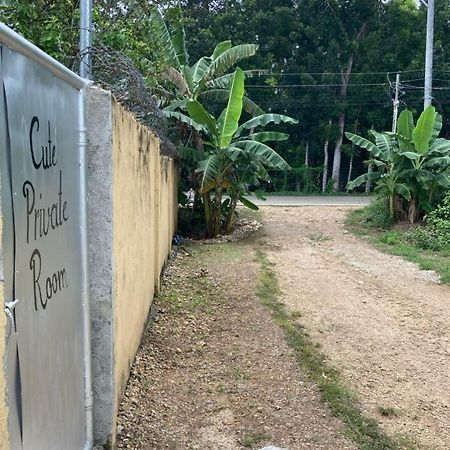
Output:
[[111,439],[115,420],[113,291],[113,167],[111,94],[86,96],[88,123],[89,282],[91,296],[94,439]]

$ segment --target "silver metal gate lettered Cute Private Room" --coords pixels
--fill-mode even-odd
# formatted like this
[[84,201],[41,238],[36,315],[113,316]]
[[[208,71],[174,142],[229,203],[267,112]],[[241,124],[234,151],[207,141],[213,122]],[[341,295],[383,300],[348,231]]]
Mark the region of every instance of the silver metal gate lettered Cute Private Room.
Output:
[[0,51],[11,448],[88,448],[84,80],[3,25]]

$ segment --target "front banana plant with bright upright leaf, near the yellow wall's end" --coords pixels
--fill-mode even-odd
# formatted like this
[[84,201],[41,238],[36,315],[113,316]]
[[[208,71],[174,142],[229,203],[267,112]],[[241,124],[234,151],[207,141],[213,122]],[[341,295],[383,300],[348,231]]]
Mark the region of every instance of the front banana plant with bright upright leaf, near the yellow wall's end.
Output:
[[[245,73],[237,68],[231,77],[228,103],[216,119],[196,99],[187,102],[189,120],[201,127],[205,158],[199,161],[200,193],[203,195],[207,232],[216,236],[230,231],[238,201],[255,207],[246,197],[248,185],[267,176],[265,168],[287,170],[289,165],[267,142],[286,140],[273,131],[255,132],[269,123],[297,123],[280,114],[262,114],[239,125],[243,111]],[[223,202],[224,194],[227,194]],[[224,205],[225,204],[225,205]],[[226,220],[222,228],[222,213]]]

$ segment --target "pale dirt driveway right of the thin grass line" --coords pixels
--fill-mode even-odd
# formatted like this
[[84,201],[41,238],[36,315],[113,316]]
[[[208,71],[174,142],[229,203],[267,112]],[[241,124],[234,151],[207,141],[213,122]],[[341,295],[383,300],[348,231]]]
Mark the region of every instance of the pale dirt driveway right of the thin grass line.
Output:
[[344,230],[349,207],[264,207],[283,301],[391,435],[450,448],[450,287]]

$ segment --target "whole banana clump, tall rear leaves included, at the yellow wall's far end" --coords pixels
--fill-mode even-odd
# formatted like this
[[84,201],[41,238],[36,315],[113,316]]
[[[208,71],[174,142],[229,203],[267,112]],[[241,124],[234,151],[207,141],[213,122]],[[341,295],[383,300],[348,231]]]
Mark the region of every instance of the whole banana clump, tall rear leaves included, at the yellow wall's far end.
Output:
[[[266,126],[298,121],[264,113],[245,95],[246,72],[239,67],[229,72],[242,59],[253,56],[257,45],[233,46],[230,40],[223,41],[212,55],[202,56],[190,66],[183,24],[178,22],[171,32],[157,9],[152,12],[152,23],[166,66],[159,80],[167,105],[163,113],[176,123],[185,188],[193,194],[190,214],[199,218],[195,210],[203,210],[200,223],[204,223],[206,237],[230,233],[238,202],[258,209],[246,197],[252,193],[251,187],[269,181],[269,169],[289,169],[269,145],[286,141],[289,135],[268,131]],[[225,105],[222,110],[221,105]],[[244,114],[247,118],[241,121]]]

